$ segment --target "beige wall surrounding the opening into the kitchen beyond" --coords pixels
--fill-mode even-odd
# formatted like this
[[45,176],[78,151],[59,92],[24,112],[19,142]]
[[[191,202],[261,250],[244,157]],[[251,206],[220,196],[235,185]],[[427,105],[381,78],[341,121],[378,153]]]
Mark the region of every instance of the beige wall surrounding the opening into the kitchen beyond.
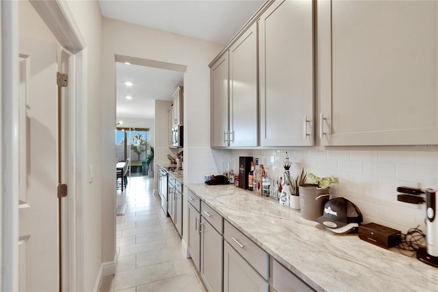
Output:
[[[184,73],[184,160],[190,159],[191,147],[209,149],[209,67],[223,45],[162,32],[149,27],[133,25],[123,21],[103,18],[103,132],[104,143],[114,141],[116,123],[116,63],[115,54],[146,60],[156,60],[170,64],[187,66]],[[196,114],[188,114],[188,109],[196,109]],[[191,111],[190,110],[190,111]],[[157,126],[156,126],[157,127]],[[108,134],[106,134],[108,133]],[[192,151],[196,161],[199,151]],[[104,157],[114,158],[115,150],[103,148]],[[210,157],[212,160],[212,157]],[[109,159],[111,160],[111,159]],[[115,174],[111,163],[103,161],[103,193],[114,201]],[[185,164],[184,181],[191,180],[191,173],[197,165]],[[105,170],[106,169],[106,170]],[[113,203],[114,204],[114,203]],[[108,206],[109,207],[109,206]],[[103,212],[114,212],[105,209]],[[105,226],[105,228],[109,226]],[[112,226],[115,229],[115,226]],[[110,236],[107,237],[107,240]]]

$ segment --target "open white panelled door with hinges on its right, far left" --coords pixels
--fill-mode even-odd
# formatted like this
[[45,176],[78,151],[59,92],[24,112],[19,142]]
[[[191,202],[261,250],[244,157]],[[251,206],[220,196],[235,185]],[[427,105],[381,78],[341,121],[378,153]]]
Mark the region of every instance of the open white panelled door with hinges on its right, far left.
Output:
[[57,46],[21,38],[19,290],[59,291]]

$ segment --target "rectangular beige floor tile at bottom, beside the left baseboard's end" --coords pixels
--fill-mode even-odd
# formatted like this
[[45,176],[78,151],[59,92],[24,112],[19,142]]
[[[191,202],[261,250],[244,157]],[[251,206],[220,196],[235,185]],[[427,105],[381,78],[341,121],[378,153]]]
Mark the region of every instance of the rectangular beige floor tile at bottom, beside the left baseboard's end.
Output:
[[114,277],[114,290],[127,289],[142,284],[157,282],[175,277],[172,263],[162,263],[140,269],[133,269],[116,273]]

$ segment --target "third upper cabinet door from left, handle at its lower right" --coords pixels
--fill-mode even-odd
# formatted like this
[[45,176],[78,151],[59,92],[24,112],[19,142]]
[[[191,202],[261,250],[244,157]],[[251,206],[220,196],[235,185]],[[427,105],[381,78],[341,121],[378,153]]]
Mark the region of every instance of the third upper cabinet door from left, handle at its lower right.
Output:
[[313,1],[276,1],[259,19],[260,144],[313,145]]

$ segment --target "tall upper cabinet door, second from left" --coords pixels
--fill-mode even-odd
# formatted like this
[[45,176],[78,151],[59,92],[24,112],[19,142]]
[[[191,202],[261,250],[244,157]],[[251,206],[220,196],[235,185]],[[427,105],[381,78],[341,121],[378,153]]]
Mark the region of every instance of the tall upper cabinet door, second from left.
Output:
[[257,23],[229,49],[230,146],[257,146]]

